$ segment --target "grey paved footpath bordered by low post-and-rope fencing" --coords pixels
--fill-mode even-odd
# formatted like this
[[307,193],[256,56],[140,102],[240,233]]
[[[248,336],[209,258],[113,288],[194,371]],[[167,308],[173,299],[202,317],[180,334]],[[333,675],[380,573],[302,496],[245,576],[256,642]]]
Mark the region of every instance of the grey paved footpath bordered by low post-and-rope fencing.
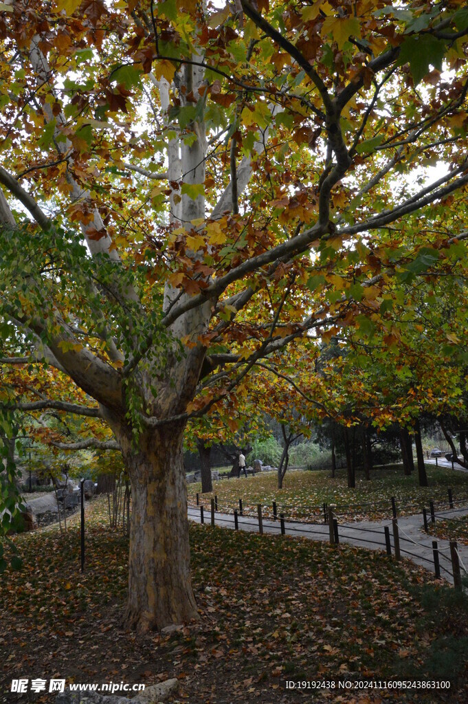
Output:
[[[189,506],[189,519],[200,523],[200,508]],[[438,511],[436,517],[455,518],[468,515],[468,508],[454,508]],[[390,529],[390,541],[392,555],[395,551],[393,541],[393,530],[391,520],[379,523],[372,521],[348,522],[345,518],[337,516],[339,523],[339,540],[341,543],[349,543],[358,548],[370,550],[385,550],[384,526]],[[430,517],[429,517],[430,520]],[[204,521],[210,524],[210,509],[205,507]],[[239,516],[239,530],[247,530],[258,533],[258,519],[253,516]],[[225,528],[234,529],[234,516],[232,514],[215,512],[215,524]],[[284,521],[286,535],[308,538],[310,540],[329,540],[328,524],[305,524],[296,521]],[[263,531],[265,533],[279,534],[281,527],[279,520],[263,519]],[[426,570],[434,572],[434,556],[432,551],[433,536],[424,533],[422,515],[412,515],[398,518],[398,531],[400,536],[400,552],[403,558],[409,558],[417,565],[422,565]],[[462,577],[468,571],[468,546],[458,543],[458,553],[460,555],[460,571]],[[448,540],[438,539],[438,550],[440,551],[441,575],[448,582],[453,584],[452,565],[450,562],[450,545]]]

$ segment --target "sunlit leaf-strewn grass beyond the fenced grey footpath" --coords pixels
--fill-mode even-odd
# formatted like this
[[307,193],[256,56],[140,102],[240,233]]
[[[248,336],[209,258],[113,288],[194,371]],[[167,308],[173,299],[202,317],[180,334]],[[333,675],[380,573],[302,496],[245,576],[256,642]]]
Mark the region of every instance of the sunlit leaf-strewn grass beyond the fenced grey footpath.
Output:
[[286,517],[322,520],[324,502],[335,503],[336,513],[348,519],[379,520],[391,516],[391,497],[396,499],[398,515],[417,513],[429,501],[445,502],[448,508],[447,489],[453,490],[455,501],[468,503],[468,474],[450,468],[426,465],[429,486],[418,484],[417,472],[405,477],[402,469],[374,470],[366,482],[362,472],[356,476],[355,489],[348,489],[346,472],[339,470],[331,479],[329,472],[287,472],[283,489],[277,488],[276,472],[263,472],[239,479],[222,479],[213,482],[213,494],[201,494],[201,484],[189,484],[189,503],[195,504],[196,493],[205,506],[212,496],[217,496],[219,510],[232,511],[242,499],[246,513],[255,513],[258,503],[263,505],[265,516],[272,516],[272,501],[277,502],[278,513]]

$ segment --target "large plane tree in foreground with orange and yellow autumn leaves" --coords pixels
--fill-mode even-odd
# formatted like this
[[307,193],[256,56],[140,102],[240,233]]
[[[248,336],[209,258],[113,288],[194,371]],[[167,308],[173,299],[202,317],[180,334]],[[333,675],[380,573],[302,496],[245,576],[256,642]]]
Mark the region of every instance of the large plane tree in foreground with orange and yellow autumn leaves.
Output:
[[189,417],[464,256],[467,27],[459,0],[0,4],[1,368],[32,379],[3,403],[111,429],[84,444],[132,482],[129,627],[196,617]]

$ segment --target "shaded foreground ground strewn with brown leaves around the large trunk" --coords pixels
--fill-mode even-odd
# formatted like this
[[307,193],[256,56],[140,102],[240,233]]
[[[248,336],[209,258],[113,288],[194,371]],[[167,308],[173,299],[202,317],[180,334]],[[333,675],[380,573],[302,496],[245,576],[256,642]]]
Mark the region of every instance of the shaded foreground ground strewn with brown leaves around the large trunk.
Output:
[[[305,539],[191,525],[201,619],[161,636],[127,634],[127,539],[87,515],[87,570],[79,572],[77,518],[15,537],[23,570],[0,595],[2,702],[13,677],[92,683],[178,677],[177,701],[460,702],[468,698],[468,605],[419,567],[382,553]],[[286,679],[451,679],[452,689],[298,691]],[[455,687],[458,688],[455,693]],[[30,700],[53,701],[52,695]]]

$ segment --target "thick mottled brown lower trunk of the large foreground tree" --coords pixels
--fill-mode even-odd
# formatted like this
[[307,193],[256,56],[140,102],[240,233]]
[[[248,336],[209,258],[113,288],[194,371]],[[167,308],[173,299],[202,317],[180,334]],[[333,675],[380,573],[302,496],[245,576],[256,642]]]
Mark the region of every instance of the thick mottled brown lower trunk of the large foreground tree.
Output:
[[191,586],[183,425],[120,437],[132,484],[126,625],[144,632],[197,617]]

